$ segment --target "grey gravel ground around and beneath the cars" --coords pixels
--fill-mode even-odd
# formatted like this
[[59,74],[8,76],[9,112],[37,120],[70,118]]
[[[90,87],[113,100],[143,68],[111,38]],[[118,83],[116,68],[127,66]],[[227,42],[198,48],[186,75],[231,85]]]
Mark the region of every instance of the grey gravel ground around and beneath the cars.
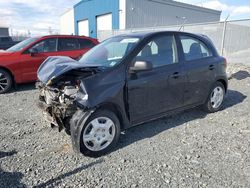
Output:
[[250,68],[229,67],[224,108],[127,130],[94,159],[43,121],[33,84],[0,96],[0,187],[250,187]]

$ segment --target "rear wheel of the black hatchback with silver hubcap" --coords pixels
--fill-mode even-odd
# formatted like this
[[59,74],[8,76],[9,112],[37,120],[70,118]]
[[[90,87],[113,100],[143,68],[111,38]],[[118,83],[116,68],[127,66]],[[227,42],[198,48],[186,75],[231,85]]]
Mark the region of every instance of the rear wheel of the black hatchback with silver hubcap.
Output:
[[215,82],[210,90],[209,96],[203,105],[203,110],[209,113],[217,112],[221,109],[225,98],[225,87],[221,82]]

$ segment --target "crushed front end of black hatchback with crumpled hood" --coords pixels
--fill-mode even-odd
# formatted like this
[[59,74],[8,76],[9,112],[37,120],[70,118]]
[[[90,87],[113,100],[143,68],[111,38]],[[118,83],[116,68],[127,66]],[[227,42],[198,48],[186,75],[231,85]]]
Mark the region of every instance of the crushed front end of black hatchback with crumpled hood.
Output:
[[[95,67],[80,67],[67,57],[50,57],[38,70],[38,107],[52,127],[70,133],[70,120],[77,110],[86,110],[82,101],[88,100],[83,80],[98,71]],[[79,103],[81,101],[81,104]]]

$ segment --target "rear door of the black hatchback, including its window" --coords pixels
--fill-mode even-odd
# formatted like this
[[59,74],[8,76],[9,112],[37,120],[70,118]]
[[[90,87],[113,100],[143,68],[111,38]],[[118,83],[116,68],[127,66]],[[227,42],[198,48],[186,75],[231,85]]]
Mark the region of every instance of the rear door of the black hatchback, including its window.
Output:
[[216,58],[204,41],[188,34],[179,34],[187,73],[185,105],[204,102],[215,79]]

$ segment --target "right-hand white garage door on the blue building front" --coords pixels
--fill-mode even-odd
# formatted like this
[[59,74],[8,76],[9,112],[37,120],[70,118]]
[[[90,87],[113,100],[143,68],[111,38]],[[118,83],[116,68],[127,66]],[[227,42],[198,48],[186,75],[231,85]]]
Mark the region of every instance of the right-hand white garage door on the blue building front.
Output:
[[112,14],[105,14],[96,17],[97,36],[101,30],[112,30]]

